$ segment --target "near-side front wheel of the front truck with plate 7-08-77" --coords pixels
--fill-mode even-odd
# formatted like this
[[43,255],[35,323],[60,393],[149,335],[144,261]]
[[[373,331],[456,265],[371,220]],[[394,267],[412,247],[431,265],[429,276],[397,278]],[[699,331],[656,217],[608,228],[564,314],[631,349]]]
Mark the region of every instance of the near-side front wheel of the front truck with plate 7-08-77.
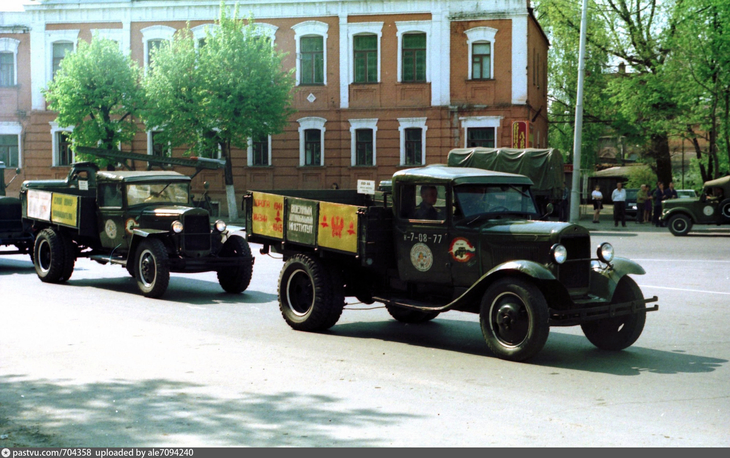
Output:
[[505,277],[484,293],[479,322],[487,346],[502,360],[533,357],[548,341],[548,301],[526,280]]

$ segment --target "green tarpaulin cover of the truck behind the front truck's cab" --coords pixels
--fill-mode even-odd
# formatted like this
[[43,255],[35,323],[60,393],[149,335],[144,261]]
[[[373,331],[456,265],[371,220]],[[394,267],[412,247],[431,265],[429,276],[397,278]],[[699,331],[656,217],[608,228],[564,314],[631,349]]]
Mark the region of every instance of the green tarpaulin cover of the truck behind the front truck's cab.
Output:
[[561,198],[565,172],[563,156],[555,148],[458,148],[449,152],[450,167],[475,167],[528,176],[535,193]]

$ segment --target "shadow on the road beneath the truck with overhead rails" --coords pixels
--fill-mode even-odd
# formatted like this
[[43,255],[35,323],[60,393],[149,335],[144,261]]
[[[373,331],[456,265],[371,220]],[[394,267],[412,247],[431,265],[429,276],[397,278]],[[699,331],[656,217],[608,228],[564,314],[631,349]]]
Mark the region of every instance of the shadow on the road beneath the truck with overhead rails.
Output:
[[[135,295],[141,294],[137,289],[137,280],[128,275],[118,278],[102,279],[72,278],[66,284],[74,287],[94,287],[102,290],[128,292],[129,294]],[[218,282],[191,279],[188,276],[170,276],[170,284],[165,294],[159,299],[150,300],[164,300],[193,305],[222,305],[269,303],[276,299],[277,295],[269,292],[246,290],[241,294],[231,294],[223,291],[223,288],[220,287]]]

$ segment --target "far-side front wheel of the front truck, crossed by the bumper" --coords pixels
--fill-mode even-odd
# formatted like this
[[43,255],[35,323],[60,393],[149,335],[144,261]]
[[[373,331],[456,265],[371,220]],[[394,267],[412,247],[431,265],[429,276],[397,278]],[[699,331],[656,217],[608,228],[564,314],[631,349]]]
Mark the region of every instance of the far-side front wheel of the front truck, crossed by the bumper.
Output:
[[[623,276],[616,285],[611,303],[629,302],[629,300],[642,298],[644,295],[642,295],[639,285],[629,276]],[[644,311],[638,314],[599,319],[596,322],[580,325],[580,327],[591,344],[602,350],[618,352],[637,341],[644,330],[645,322],[646,312]]]

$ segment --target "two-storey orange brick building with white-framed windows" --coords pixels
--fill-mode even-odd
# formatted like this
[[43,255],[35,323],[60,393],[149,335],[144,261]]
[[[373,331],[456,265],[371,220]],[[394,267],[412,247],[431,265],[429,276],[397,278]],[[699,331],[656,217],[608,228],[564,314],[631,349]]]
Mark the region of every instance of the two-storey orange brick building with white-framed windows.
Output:
[[[531,121],[532,146],[547,146],[549,44],[529,0],[239,4],[288,53],[284,65],[296,69],[298,110],[284,133],[231,152],[239,202],[247,189],[348,188],[357,179],[444,163],[454,147],[510,147],[518,120]],[[24,12],[0,12],[0,160],[20,166],[23,179],[66,176],[70,128],[55,124],[41,90],[78,40],[98,31],[147,66],[149,47],[186,23],[204,36],[218,5],[41,0]],[[123,149],[158,150],[154,133],[144,129]],[[223,205],[223,174],[200,174],[193,191],[204,180]]]

